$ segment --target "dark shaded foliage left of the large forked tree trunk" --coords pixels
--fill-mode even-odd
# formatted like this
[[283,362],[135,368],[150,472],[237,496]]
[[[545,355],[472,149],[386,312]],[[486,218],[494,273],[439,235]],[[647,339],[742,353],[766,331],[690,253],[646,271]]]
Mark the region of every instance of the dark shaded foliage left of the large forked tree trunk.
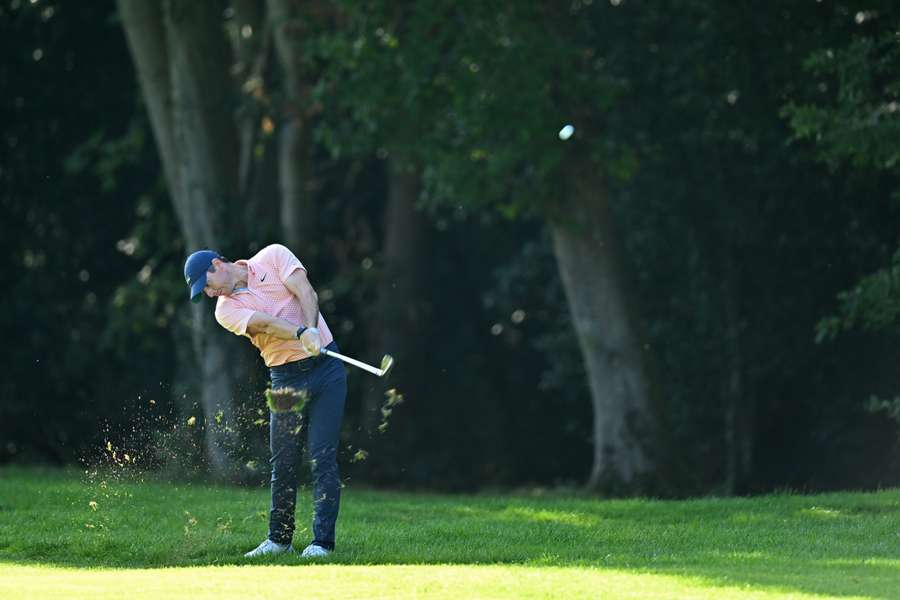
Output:
[[[139,221],[166,230],[168,211],[148,202],[157,175],[136,90],[111,84],[130,65],[109,4],[24,4],[0,7],[0,452],[61,463],[102,435],[98,415],[121,427],[123,401],[159,385],[152,369],[129,366],[165,360],[154,315],[122,323],[121,337],[110,326],[123,318],[117,290],[137,285],[147,252],[129,256],[120,240]],[[170,234],[153,242],[155,255],[181,254]],[[148,299],[165,293],[140,287]]]

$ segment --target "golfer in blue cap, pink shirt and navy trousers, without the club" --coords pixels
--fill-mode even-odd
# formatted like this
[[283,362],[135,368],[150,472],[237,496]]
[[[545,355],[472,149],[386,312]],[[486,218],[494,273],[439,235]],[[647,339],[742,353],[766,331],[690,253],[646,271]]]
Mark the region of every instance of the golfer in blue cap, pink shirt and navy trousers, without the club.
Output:
[[[305,411],[307,447],[313,476],[313,540],[301,556],[327,556],[334,550],[334,528],[341,498],[337,465],[338,436],[347,396],[347,374],[337,359],[320,354],[337,350],[306,269],[280,244],[253,258],[229,262],[217,252],[200,250],[184,263],[191,301],[201,294],[216,301],[216,321],[250,338],[269,367],[272,388],[292,387],[309,394]],[[293,552],[301,417],[293,411],[270,412],[272,507],[269,535],[246,557]]]

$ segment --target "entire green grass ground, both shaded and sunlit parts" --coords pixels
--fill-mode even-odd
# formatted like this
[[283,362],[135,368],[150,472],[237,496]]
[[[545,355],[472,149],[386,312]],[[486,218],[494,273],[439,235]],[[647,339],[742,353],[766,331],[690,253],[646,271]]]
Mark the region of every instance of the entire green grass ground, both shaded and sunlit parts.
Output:
[[[309,536],[301,492],[296,541]],[[0,470],[0,598],[900,598],[900,492],[683,502],[344,490],[328,559],[246,561],[268,491]]]

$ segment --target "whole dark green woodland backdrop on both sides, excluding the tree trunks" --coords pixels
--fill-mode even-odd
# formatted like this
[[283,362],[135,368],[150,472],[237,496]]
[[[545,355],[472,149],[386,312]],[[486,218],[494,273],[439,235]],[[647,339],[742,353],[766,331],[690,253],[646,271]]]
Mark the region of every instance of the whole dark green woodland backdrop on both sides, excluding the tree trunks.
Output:
[[[354,403],[373,384],[352,375],[345,442],[379,447],[354,481],[583,480],[590,404],[541,220],[567,152],[610,184],[663,492],[721,489],[731,413],[753,451],[729,489],[900,481],[896,428],[866,411],[900,392],[891,3],[335,6],[341,28],[308,40],[324,74],[311,277],[345,352],[367,352],[378,319],[386,158],[421,169],[433,246],[429,393],[373,440]],[[92,462],[108,439],[149,460],[183,427],[183,242],[115,7],[13,0],[0,21],[0,461]],[[248,418],[263,385],[261,368],[243,383]]]

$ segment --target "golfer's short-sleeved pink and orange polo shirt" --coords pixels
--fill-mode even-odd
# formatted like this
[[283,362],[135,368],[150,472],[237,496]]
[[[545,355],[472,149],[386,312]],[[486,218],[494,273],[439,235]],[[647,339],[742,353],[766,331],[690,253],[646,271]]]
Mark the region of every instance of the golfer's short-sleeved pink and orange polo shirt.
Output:
[[[297,269],[306,270],[294,254],[281,244],[266,246],[253,258],[235,261],[247,267],[247,289],[228,296],[219,296],[216,302],[216,321],[234,333],[250,338],[259,348],[267,367],[283,365],[308,358],[298,340],[282,340],[269,334],[250,335],[247,324],[254,312],[261,312],[284,319],[300,326],[300,301],[284,285],[284,281]],[[334,340],[325,317],[319,313],[316,325],[324,348]]]

